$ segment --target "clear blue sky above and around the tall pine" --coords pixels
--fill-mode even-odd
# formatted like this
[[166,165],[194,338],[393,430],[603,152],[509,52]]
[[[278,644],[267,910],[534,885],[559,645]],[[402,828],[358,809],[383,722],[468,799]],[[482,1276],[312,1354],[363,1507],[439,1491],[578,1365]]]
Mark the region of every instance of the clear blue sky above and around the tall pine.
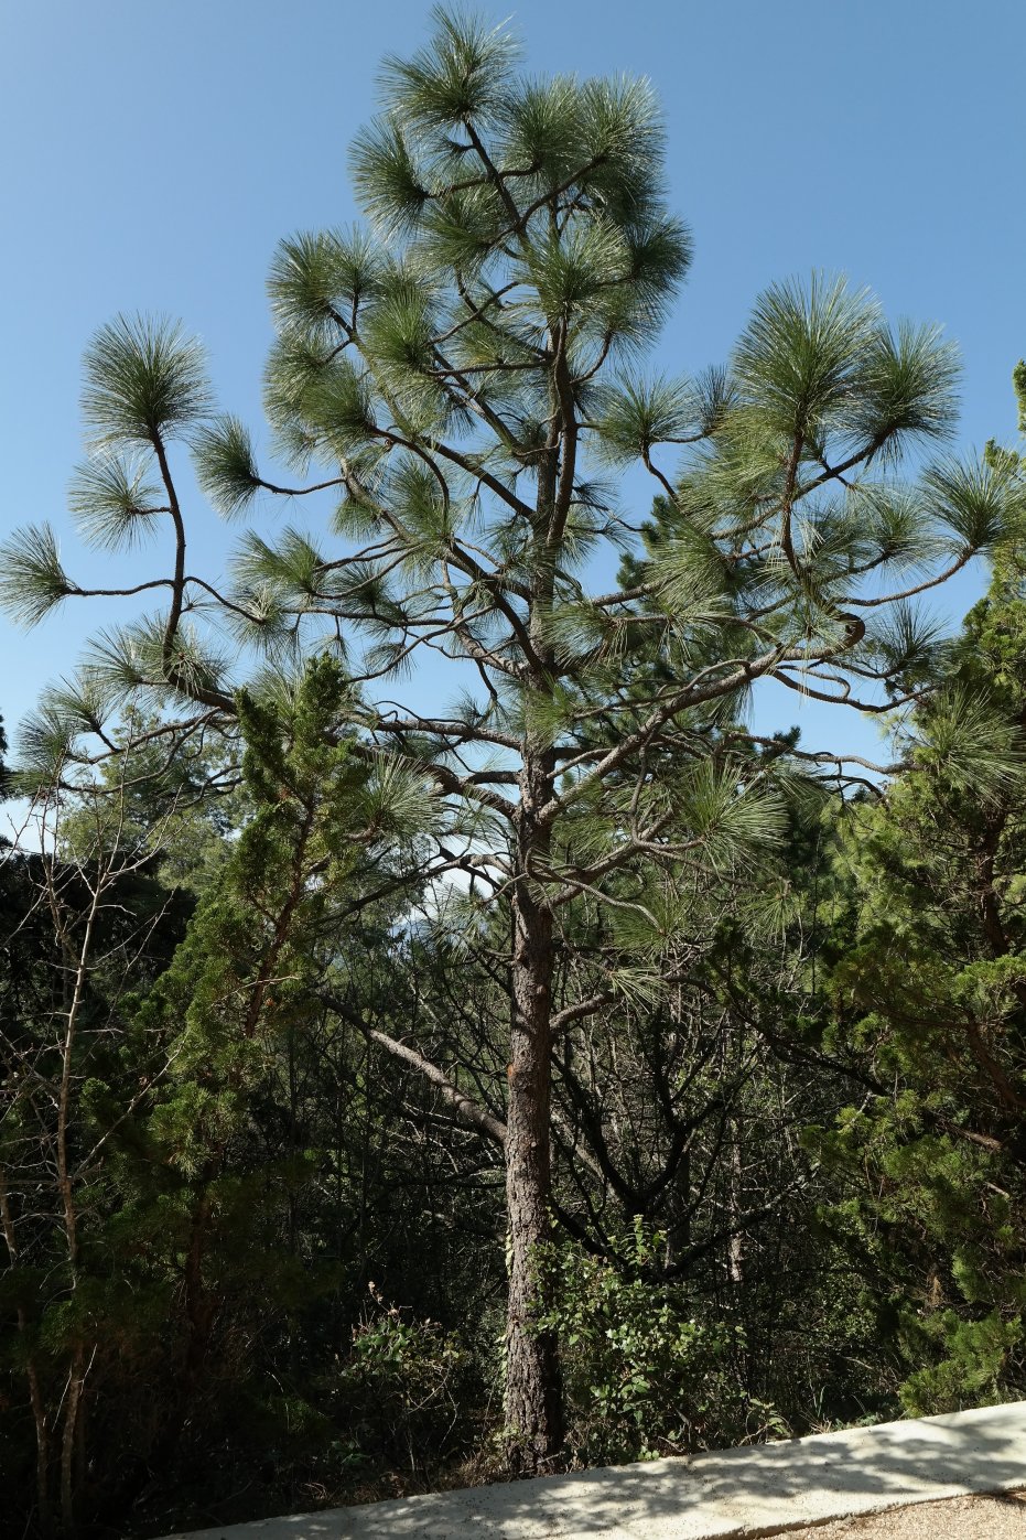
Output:
[[[508,3],[482,9],[498,22]],[[274,243],[354,217],[347,146],[382,54],[416,46],[427,15],[424,0],[0,0],[3,531],[51,519],[72,576],[111,576],[77,547],[65,497],[79,360],[117,311],[180,316],[222,405],[259,424]],[[723,359],[770,280],[841,270],[960,342],[963,447],[1012,439],[1021,0],[522,0],[513,20],[531,71],[645,74],[666,103],[696,256],[661,367]],[[217,570],[228,544],[213,516],[194,524],[193,570]],[[952,619],[980,579],[952,585]],[[119,618],[65,605],[28,636],[0,621],[8,727]],[[767,725],[804,716],[810,747],[827,736],[793,696],[764,710]]]

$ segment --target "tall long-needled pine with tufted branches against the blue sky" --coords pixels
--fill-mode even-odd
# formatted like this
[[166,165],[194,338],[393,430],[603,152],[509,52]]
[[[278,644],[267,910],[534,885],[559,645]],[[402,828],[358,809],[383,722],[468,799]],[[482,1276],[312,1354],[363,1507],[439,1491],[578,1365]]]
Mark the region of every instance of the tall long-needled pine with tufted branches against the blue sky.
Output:
[[[770,678],[857,710],[909,699],[935,645],[915,596],[1000,537],[1021,493],[994,464],[898,477],[909,448],[954,425],[955,357],[843,280],[769,288],[727,370],[645,373],[690,240],[642,82],[522,74],[505,28],[436,11],[428,43],[385,62],[351,165],[367,223],[293,236],[271,270],[265,399],[288,474],[265,474],[245,425],[213,411],[177,326],[120,317],[89,346],[92,448],[72,508],[114,551],[166,531],[153,579],[102,590],[162,608],[97,639],[29,747],[68,764],[92,735],[102,755],[97,728],[140,698],[166,713],[168,741],[228,722],[234,651],[265,658],[257,696],[305,650],[345,661],[331,735],[417,827],[405,879],[461,872],[461,932],[479,912],[508,919],[505,1120],[453,1098],[505,1150],[507,1423],[519,1465],[539,1469],[561,1443],[533,1266],[552,1223],[553,1043],[625,992],[658,992],[689,861],[739,869],[781,838],[793,758],[761,764],[719,724]],[[331,496],[328,531],[248,533],[231,581],[194,573],[180,440],[223,516]],[[666,500],[662,537],[627,585],[604,587],[604,561],[635,548],[609,484],[633,462]],[[46,527],[5,564],[6,605],[28,622],[97,594]],[[424,659],[451,665],[450,704],[421,684],[396,699]],[[804,764],[847,768],[829,747]],[[582,896],[633,927],[638,961],[556,1007]],[[391,1049],[417,1061],[416,1044]]]

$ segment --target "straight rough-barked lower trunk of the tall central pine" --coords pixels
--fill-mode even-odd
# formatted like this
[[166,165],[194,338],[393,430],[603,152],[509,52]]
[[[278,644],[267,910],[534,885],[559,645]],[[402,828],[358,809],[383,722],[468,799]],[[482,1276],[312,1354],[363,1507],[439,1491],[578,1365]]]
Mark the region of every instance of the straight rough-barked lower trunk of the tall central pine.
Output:
[[[525,776],[527,781],[527,776]],[[544,832],[530,829],[530,799],[521,822],[522,872],[544,853]],[[533,1324],[544,1309],[536,1247],[552,1230],[552,912],[528,881],[513,902],[513,1009],[505,1140],[505,1195],[510,1226],[510,1297],[505,1332],[505,1420],[510,1461],[518,1474],[553,1466],[562,1445],[562,1381],[555,1332]]]

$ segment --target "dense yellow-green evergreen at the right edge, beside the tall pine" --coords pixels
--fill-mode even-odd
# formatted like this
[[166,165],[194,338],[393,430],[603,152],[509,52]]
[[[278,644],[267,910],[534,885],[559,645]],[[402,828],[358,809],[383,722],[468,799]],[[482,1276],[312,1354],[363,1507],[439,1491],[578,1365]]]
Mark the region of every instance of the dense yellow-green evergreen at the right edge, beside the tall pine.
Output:
[[[1015,388],[1021,431],[1021,363]],[[1026,1386],[1024,681],[1020,533],[906,724],[907,768],[841,844],[830,1043],[869,1095],[813,1144],[849,1184],[833,1223],[866,1247],[914,1414]]]

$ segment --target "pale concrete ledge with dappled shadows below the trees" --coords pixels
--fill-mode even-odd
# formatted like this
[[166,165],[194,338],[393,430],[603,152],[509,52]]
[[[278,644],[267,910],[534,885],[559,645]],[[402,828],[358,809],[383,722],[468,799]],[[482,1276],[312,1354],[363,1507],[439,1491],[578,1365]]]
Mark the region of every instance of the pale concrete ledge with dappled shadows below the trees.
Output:
[[188,1540],[721,1540],[1015,1488],[1026,1488],[1026,1401],[265,1518]]

